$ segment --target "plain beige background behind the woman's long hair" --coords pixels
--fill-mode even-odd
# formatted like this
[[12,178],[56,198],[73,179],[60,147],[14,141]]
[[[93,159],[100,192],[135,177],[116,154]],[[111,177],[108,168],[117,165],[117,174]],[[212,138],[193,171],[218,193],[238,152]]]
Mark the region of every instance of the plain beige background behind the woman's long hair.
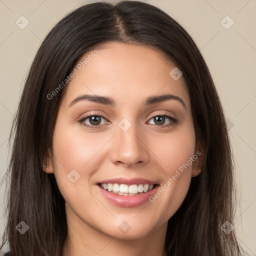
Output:
[[[0,0],[0,179],[9,160],[7,138],[13,114],[36,50],[65,13],[85,2],[89,1]],[[234,228],[243,248],[249,255],[256,255],[256,1],[146,2],[160,7],[184,26],[208,64],[229,119],[236,162],[239,202]],[[29,21],[24,29],[15,24],[21,15]],[[234,21],[229,29],[220,23],[226,15]],[[228,19],[224,22],[230,24]],[[1,186],[0,235],[5,221],[3,190]]]

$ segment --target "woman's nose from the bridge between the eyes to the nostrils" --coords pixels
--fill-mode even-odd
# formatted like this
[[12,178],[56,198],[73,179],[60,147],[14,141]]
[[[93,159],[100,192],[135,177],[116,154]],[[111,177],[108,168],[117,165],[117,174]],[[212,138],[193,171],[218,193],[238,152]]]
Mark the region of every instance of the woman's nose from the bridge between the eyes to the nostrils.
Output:
[[127,118],[123,118],[117,124],[117,134],[111,156],[113,162],[118,161],[125,165],[132,165],[148,160],[146,146],[139,138],[134,118],[132,120],[131,123]]

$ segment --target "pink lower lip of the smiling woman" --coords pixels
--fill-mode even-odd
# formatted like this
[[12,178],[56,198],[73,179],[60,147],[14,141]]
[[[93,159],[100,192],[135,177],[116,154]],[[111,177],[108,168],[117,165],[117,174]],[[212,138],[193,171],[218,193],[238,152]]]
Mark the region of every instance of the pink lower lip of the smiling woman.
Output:
[[100,192],[102,195],[111,203],[121,206],[121,207],[135,207],[138,205],[141,205],[145,203],[146,201],[149,201],[149,197],[152,196],[158,185],[156,185],[153,189],[147,192],[143,192],[141,194],[136,195],[121,195],[121,194],[115,194],[112,192],[109,192],[99,185],[97,185],[98,189],[100,189]]

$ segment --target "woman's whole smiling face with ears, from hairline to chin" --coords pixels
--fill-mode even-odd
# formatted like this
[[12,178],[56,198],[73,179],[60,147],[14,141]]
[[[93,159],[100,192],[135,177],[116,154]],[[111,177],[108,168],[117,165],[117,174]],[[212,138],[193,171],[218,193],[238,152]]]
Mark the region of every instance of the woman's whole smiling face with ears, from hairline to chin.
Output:
[[45,170],[73,223],[139,238],[166,228],[179,208],[202,152],[185,81],[169,74],[174,67],[157,49],[120,42],[77,62]]

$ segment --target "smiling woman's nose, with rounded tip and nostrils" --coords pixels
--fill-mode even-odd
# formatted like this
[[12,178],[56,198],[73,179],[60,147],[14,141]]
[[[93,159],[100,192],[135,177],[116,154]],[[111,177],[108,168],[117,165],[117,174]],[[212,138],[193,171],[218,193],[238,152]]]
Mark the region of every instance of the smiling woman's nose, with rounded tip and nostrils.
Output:
[[117,126],[117,134],[114,136],[112,146],[111,161],[114,164],[119,163],[130,167],[148,161],[147,146],[143,136],[138,134],[134,124],[126,131]]

